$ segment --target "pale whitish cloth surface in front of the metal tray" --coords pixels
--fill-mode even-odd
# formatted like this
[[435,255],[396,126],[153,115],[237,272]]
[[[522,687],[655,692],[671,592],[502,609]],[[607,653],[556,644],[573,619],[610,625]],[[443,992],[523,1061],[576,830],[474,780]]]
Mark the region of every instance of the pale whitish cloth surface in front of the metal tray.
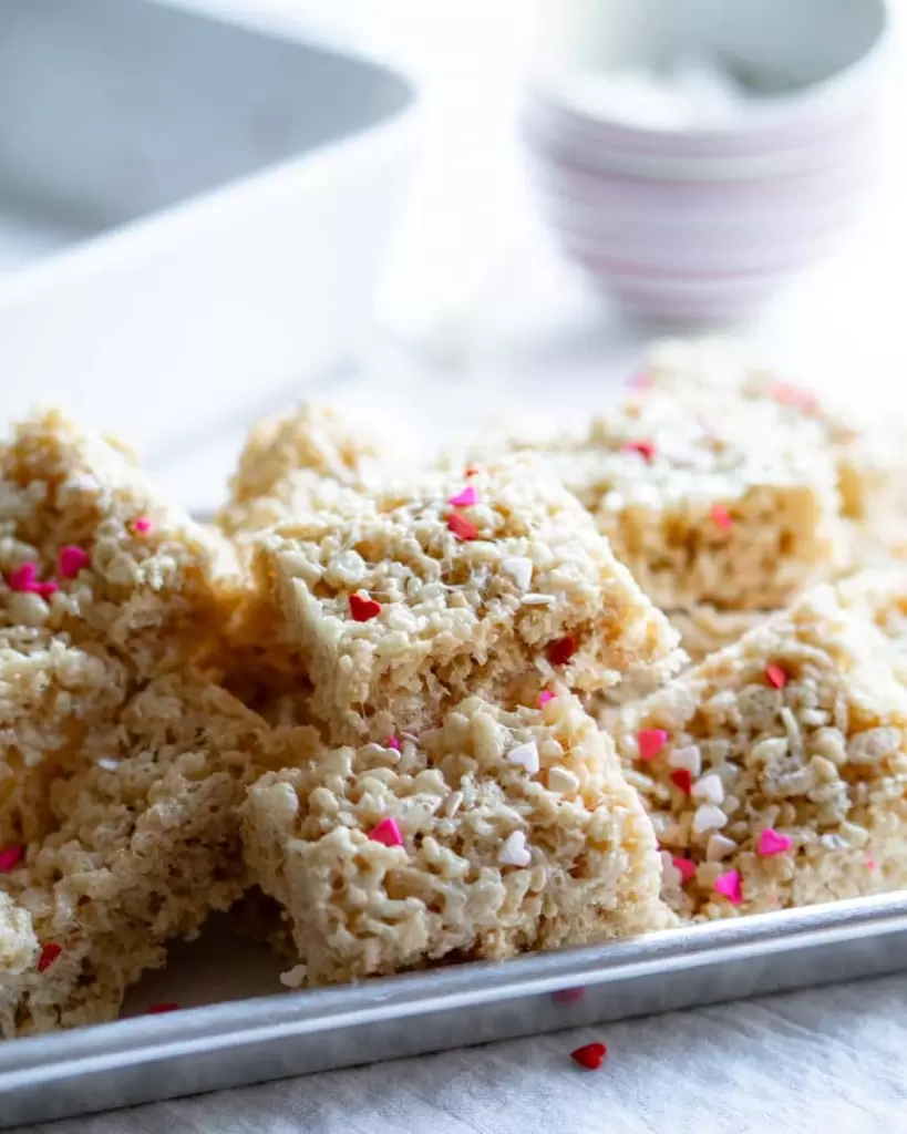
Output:
[[[887,978],[155,1103],[27,1134],[884,1134],[907,1125],[905,1009],[907,976]],[[592,1040],[605,1042],[609,1057],[583,1072],[569,1052]]]

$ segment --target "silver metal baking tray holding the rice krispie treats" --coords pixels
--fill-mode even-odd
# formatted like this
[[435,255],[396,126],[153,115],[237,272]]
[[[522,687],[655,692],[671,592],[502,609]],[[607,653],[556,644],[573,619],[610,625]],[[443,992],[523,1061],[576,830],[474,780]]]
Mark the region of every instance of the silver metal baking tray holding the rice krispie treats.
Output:
[[[254,965],[213,936],[235,988]],[[184,989],[211,978],[193,949]],[[122,1019],[0,1044],[0,1127],[905,968],[907,895],[890,894]]]

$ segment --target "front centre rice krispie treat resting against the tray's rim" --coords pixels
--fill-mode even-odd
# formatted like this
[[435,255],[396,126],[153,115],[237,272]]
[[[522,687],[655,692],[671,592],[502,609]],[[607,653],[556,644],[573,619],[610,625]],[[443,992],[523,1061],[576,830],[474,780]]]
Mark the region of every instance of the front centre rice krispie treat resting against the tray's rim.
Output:
[[651,823],[569,695],[342,747],[253,785],[253,874],[288,911],[298,981],[502,958],[670,922]]

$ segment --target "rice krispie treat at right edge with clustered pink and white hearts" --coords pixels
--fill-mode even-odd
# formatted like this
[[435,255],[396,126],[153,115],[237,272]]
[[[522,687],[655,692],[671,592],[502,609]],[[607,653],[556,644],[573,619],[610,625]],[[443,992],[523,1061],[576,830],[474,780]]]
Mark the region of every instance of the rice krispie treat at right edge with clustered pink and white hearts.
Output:
[[627,706],[617,743],[684,917],[907,886],[907,691],[831,587]]

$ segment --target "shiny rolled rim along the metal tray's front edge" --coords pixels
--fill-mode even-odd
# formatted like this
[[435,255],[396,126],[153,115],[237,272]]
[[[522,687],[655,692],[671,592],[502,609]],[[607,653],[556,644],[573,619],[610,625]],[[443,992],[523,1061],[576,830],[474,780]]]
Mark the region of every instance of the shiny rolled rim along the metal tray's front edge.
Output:
[[358,984],[276,992],[0,1041],[0,1098],[6,1090],[35,1089],[96,1070],[228,1052],[248,1043],[889,933],[907,934],[907,891],[679,926],[627,940],[524,954],[503,962],[468,962]]

